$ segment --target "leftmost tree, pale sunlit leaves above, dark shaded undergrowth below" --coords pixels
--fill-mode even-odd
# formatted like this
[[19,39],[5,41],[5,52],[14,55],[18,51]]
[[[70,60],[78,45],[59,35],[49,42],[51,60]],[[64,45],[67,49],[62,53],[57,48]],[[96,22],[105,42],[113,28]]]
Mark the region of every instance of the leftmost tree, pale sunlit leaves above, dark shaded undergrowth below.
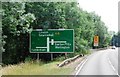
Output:
[[[17,63],[24,59],[26,43],[28,45],[28,32],[30,23],[35,20],[31,13],[25,14],[25,3],[3,2],[2,30],[6,44],[4,46],[3,63]],[[24,39],[24,40],[23,40]],[[28,40],[28,39],[27,39]],[[7,56],[7,58],[6,58]]]

